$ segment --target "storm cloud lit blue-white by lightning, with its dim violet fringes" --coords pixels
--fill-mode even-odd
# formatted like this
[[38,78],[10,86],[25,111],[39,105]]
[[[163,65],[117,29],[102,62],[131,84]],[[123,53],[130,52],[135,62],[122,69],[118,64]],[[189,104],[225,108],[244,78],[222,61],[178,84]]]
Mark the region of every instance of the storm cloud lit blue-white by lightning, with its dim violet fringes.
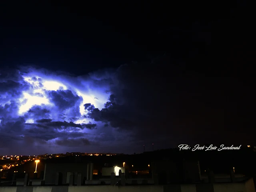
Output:
[[[29,67],[16,70],[14,76],[6,73],[0,78],[1,150],[121,150],[120,144],[134,139],[133,131],[145,117],[134,108],[138,103],[130,100],[133,93],[123,89],[129,82],[120,79],[120,70],[78,77]],[[30,148],[24,147],[27,144]]]

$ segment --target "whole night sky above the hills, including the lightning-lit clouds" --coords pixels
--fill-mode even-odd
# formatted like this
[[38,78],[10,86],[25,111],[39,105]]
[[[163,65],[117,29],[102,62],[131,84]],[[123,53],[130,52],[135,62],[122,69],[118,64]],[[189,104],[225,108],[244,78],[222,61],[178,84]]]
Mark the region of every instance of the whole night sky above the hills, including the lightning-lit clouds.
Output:
[[246,1],[17,1],[0,12],[0,154],[254,144]]

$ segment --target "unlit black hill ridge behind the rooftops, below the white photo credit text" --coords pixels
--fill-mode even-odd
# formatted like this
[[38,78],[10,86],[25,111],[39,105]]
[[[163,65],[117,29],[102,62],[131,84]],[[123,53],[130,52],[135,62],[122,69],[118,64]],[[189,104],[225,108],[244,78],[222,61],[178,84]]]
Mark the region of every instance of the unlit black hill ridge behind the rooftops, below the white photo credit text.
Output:
[[240,150],[179,150],[178,148],[156,150],[141,154],[118,155],[118,156],[67,156],[45,160],[46,163],[86,163],[93,162],[95,168],[100,169],[105,164],[108,166],[122,166],[125,162],[127,167],[137,167],[141,170],[148,169],[148,164],[156,161],[199,161],[201,172],[211,169],[215,173],[229,173],[230,168],[235,167],[236,173],[252,174],[256,171],[254,162],[256,152],[253,148],[241,148]]

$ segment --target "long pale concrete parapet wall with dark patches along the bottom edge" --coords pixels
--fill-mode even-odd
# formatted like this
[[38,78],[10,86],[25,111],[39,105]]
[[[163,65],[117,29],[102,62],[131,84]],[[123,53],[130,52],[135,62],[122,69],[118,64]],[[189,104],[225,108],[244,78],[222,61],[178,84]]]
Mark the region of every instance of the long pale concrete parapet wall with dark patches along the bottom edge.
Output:
[[134,186],[18,186],[0,187],[0,192],[255,192],[252,179],[241,183],[208,183]]

